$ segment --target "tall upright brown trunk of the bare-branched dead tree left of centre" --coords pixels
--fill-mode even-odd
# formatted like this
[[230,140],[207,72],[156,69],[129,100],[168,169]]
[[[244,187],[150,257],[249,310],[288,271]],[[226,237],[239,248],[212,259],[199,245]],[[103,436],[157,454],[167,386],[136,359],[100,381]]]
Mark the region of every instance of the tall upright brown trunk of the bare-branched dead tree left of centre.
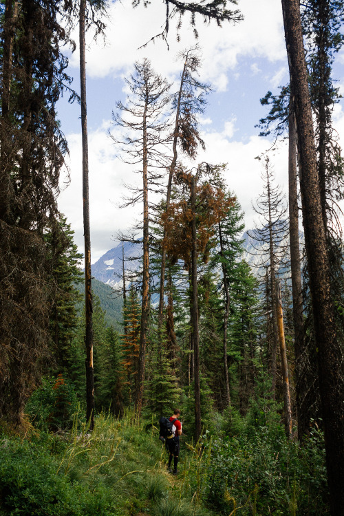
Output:
[[148,213],[148,155],[147,155],[147,101],[143,114],[143,267],[142,267],[142,309],[140,328],[140,354],[138,357],[138,389],[136,392],[136,410],[140,416],[144,389],[144,368],[146,361],[147,330],[149,320],[149,213]]

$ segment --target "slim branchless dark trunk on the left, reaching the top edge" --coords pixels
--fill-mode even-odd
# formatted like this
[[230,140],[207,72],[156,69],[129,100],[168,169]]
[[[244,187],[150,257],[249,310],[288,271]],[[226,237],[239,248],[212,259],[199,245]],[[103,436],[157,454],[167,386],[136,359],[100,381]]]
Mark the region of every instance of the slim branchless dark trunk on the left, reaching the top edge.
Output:
[[85,346],[86,346],[86,418],[90,429],[94,428],[94,368],[93,368],[93,321],[92,321],[92,272],[91,233],[89,228],[89,168],[87,140],[86,104],[86,58],[85,58],[85,11],[86,0],[80,0],[79,41],[80,41],[80,96],[81,133],[83,140],[83,222],[85,239]]

